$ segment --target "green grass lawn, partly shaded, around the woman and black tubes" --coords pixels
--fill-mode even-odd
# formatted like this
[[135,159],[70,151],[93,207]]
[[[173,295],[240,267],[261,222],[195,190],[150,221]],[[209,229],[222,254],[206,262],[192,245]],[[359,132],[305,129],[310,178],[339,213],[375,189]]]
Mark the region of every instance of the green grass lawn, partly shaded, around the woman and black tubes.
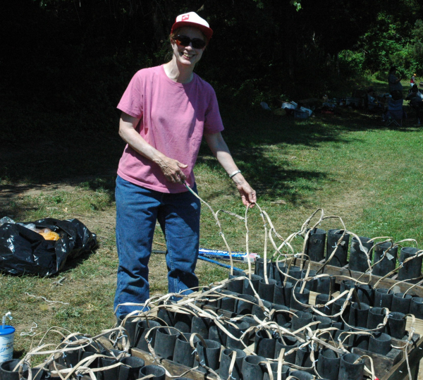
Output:
[[[350,231],[374,238],[414,238],[423,242],[423,128],[413,120],[403,128],[386,128],[377,114],[343,109],[334,115],[317,115],[305,121],[274,116],[262,109],[223,109],[224,132],[245,178],[257,190],[258,203],[276,231],[286,238],[318,208],[340,216]],[[116,121],[117,123],[117,121]],[[0,275],[0,312],[11,310],[18,333],[61,326],[69,331],[99,333],[114,324],[112,310],[117,269],[114,243],[114,172],[123,148],[116,128],[98,137],[95,146],[75,140],[56,141],[39,149],[19,146],[20,154],[6,157],[1,169],[1,216],[16,221],[44,217],[76,217],[99,235],[99,248],[66,264],[56,278]],[[27,142],[23,142],[26,144]],[[44,147],[44,148],[43,148]],[[46,157],[47,156],[47,157]],[[40,158],[44,157],[44,158]],[[50,158],[49,158],[50,157]],[[44,161],[44,162],[39,162]],[[245,216],[235,186],[206,146],[195,169],[200,197],[214,211],[224,209]],[[219,214],[232,250],[245,250],[245,223]],[[264,228],[257,207],[247,213],[249,247],[264,250]],[[329,219],[321,228],[341,227]],[[163,250],[161,231],[154,249]],[[200,245],[224,249],[214,218],[202,208]],[[270,249],[268,254],[273,254]],[[302,238],[294,240],[295,250]],[[152,293],[166,293],[164,255],[152,255]],[[206,285],[224,278],[226,269],[200,262],[197,271]],[[54,285],[62,276],[62,286]],[[66,302],[50,304],[41,298]],[[56,339],[53,336],[51,339]],[[30,347],[30,338],[16,336],[19,356]]]

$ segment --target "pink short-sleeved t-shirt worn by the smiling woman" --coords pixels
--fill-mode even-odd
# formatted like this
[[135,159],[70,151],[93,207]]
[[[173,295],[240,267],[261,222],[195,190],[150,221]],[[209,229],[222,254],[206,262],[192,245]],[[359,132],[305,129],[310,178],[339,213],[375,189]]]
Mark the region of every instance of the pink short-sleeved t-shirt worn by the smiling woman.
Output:
[[[194,168],[203,133],[223,130],[216,94],[194,74],[189,83],[169,79],[163,66],[138,71],[125,90],[118,109],[140,118],[138,133],[159,152],[177,159],[187,184],[195,183]],[[184,192],[184,185],[168,182],[159,166],[126,145],[118,175],[135,185],[159,192]]]

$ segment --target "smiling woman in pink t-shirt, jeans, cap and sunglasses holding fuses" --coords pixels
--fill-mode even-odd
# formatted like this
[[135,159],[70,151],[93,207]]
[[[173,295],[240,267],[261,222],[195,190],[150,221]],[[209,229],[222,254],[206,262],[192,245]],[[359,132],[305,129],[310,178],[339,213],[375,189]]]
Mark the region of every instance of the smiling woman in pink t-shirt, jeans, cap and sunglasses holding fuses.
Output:
[[[223,140],[213,88],[193,70],[213,31],[196,13],[180,15],[171,29],[172,59],[138,71],[125,90],[119,135],[127,145],[116,179],[119,267],[114,307],[149,298],[148,262],[156,221],[166,238],[169,293],[190,293],[195,276],[200,201],[192,171],[202,137],[228,173],[246,206],[256,202]],[[118,307],[127,314],[139,306]]]

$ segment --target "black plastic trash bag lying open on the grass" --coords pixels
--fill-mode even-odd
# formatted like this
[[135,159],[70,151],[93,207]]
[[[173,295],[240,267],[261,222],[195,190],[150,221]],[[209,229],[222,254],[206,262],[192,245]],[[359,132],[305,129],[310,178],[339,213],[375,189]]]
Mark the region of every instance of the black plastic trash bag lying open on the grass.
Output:
[[[50,228],[59,240],[45,240],[39,233],[26,228]],[[0,271],[11,274],[51,276],[63,268],[68,259],[89,252],[97,245],[97,235],[78,221],[40,219],[25,223],[4,223],[0,226]]]

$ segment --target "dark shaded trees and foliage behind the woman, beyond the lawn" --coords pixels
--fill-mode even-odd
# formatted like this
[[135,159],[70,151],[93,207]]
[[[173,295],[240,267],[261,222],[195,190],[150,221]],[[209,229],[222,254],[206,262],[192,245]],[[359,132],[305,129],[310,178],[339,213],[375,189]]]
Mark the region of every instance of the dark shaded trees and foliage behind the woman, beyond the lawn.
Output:
[[[417,0],[14,0],[3,8],[3,142],[55,140],[66,130],[76,144],[82,131],[95,139],[116,130],[125,86],[166,61],[168,32],[185,11],[215,31],[197,73],[228,106],[321,97],[366,73],[384,79],[392,64],[404,78],[419,75],[423,63]],[[13,125],[23,124],[17,134]]]

